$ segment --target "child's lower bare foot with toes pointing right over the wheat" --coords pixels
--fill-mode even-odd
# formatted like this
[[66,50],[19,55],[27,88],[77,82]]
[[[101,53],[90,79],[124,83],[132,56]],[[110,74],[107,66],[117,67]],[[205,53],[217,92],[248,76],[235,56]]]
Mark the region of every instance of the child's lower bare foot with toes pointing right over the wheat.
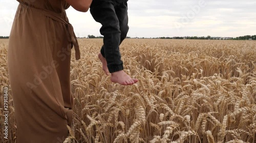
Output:
[[111,81],[115,83],[119,83],[121,85],[132,85],[136,82],[138,82],[138,79],[131,78],[129,75],[127,75],[123,70],[113,72],[111,74]]

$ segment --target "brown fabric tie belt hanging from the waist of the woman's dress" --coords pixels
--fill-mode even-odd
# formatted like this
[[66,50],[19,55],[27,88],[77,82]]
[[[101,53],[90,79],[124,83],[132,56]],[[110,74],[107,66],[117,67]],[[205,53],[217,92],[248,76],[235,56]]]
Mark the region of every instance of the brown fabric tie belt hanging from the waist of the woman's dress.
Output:
[[60,14],[58,14],[56,12],[34,8],[34,7],[26,5],[26,4],[24,4],[24,5],[32,8],[32,9],[35,9],[35,10],[40,10],[40,11],[42,11],[45,14],[45,16],[47,16],[49,18],[52,18],[53,20],[56,20],[56,21],[58,21],[60,23],[63,23],[65,25],[67,25],[67,28],[68,28],[68,40],[75,47],[75,57],[76,57],[76,60],[80,59],[80,50],[79,50],[79,45],[78,45],[78,42],[77,42],[77,38],[76,38],[76,35],[74,33],[73,26],[69,23],[68,20],[64,19]]

